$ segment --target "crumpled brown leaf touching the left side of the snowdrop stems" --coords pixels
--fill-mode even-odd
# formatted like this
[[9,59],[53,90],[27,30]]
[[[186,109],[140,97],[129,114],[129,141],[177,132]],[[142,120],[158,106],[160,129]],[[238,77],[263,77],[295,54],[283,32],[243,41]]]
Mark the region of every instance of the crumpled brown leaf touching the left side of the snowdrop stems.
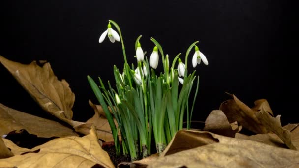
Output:
[[[113,134],[109,125],[109,122],[105,116],[102,106],[95,105],[91,101],[89,101],[90,106],[94,110],[94,115],[92,118],[86,121],[85,124],[74,127],[77,132],[86,134],[90,130],[90,126],[94,125],[96,129],[97,136],[100,140],[104,142],[114,141]],[[118,126],[118,123],[115,118],[113,118],[114,123]],[[119,131],[119,140],[121,140],[121,135]]]

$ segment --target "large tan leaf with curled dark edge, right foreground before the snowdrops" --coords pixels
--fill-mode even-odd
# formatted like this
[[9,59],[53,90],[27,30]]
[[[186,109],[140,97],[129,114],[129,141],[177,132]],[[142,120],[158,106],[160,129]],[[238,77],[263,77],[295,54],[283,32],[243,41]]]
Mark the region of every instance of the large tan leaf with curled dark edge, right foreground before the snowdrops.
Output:
[[[179,143],[176,142],[177,140]],[[182,141],[184,143],[181,143]],[[196,146],[194,141],[202,145]],[[212,143],[207,143],[207,141]],[[178,150],[177,144],[180,144],[182,150]],[[162,155],[151,162],[148,168],[181,167],[297,168],[299,167],[299,152],[209,132],[180,130]]]

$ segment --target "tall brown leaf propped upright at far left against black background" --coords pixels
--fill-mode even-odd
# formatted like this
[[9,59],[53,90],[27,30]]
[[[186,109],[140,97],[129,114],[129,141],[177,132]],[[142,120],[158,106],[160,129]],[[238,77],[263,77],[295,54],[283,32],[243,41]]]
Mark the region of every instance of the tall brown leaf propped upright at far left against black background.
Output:
[[0,56],[0,62],[42,109],[71,126],[83,124],[72,120],[75,95],[65,80],[57,79],[50,63],[45,63],[43,67],[38,66],[36,61],[25,65],[3,56]]

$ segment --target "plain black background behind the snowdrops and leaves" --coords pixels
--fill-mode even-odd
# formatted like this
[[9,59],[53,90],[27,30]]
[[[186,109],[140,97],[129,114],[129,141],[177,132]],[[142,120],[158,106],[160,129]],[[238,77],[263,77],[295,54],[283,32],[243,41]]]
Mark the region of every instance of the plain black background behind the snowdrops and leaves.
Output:
[[[96,102],[87,75],[113,81],[113,65],[123,65],[119,42],[98,43],[112,19],[135,65],[139,35],[144,51],[151,53],[154,37],[171,61],[200,41],[209,66],[196,67],[194,120],[205,120],[230,92],[249,106],[266,98],[283,123],[294,123],[299,122],[296,10],[287,0],[1,0],[0,55],[21,63],[49,61],[76,95],[74,120],[85,121],[93,114],[88,100]],[[0,75],[0,103],[51,118],[2,65]]]

